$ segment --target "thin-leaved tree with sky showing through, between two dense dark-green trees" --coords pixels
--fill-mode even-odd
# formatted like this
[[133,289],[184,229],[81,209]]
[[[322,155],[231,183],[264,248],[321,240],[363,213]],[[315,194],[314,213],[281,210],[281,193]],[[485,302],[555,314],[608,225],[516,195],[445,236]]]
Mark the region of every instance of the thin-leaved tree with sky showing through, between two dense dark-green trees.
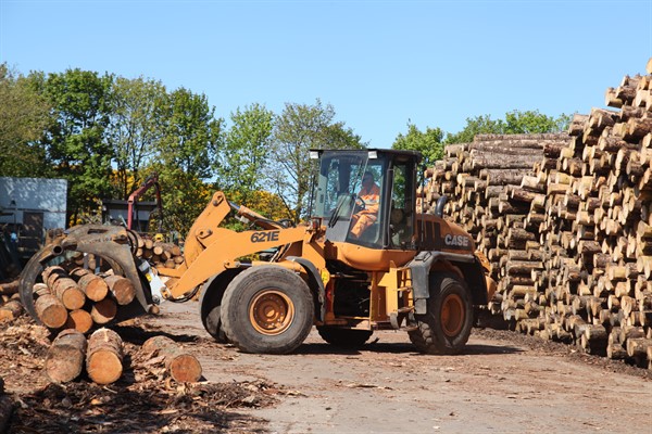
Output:
[[117,77],[112,86],[105,138],[113,150],[115,187],[123,200],[142,183],[142,171],[151,163],[163,136],[161,122],[166,97],[160,81],[142,77]]

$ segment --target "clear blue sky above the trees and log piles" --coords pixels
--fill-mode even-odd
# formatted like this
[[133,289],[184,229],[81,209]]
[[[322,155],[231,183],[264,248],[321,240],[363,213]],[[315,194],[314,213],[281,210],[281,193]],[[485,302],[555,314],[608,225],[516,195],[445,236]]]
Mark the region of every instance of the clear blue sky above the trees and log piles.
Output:
[[143,76],[238,107],[331,104],[376,148],[512,110],[589,113],[652,56],[652,0],[0,0],[0,62]]

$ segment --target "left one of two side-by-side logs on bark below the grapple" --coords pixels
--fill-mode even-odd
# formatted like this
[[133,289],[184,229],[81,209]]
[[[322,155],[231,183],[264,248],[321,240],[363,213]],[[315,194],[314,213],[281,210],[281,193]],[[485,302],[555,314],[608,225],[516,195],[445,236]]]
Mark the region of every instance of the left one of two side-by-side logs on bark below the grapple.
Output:
[[53,383],[75,380],[84,368],[87,342],[83,333],[67,329],[59,333],[46,356],[46,374]]

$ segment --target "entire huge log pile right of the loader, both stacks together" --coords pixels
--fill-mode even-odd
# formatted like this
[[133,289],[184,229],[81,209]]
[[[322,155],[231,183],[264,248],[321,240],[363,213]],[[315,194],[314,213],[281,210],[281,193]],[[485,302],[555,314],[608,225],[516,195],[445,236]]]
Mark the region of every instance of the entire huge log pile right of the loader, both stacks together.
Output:
[[489,307],[517,330],[652,368],[652,75],[605,99],[616,110],[567,135],[449,145],[423,207],[452,197],[499,282]]

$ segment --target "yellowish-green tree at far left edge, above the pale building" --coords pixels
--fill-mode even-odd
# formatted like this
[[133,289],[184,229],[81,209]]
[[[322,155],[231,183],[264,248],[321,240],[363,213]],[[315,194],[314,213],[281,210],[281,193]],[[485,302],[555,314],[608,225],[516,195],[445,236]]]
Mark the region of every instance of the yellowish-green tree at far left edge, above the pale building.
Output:
[[0,176],[28,177],[47,171],[39,139],[51,122],[50,106],[28,79],[0,64]]

